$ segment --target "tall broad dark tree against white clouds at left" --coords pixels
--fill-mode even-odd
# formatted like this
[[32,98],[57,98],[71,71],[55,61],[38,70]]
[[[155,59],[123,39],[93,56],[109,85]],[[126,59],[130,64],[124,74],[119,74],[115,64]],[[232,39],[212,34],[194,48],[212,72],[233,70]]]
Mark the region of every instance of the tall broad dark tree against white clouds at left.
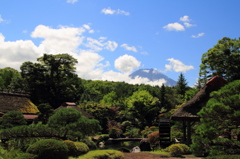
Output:
[[76,59],[68,54],[44,54],[37,60],[21,66],[34,103],[49,103],[57,108],[62,102],[79,100],[83,87],[75,74]]

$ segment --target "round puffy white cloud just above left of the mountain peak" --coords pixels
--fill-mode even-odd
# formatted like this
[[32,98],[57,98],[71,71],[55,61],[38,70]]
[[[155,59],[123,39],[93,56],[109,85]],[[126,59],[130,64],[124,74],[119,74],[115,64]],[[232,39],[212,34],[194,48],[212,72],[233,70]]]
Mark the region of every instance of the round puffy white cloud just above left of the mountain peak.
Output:
[[120,56],[114,62],[115,68],[124,73],[132,72],[134,69],[137,69],[140,64],[141,62],[138,61],[135,57],[127,54]]

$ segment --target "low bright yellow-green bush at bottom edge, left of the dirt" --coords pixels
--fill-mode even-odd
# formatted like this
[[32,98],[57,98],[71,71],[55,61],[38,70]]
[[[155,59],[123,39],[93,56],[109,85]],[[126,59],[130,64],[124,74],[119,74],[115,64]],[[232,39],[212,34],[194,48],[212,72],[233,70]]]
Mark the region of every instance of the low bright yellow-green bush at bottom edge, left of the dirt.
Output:
[[80,156],[78,159],[124,159],[124,154],[116,150],[94,150]]

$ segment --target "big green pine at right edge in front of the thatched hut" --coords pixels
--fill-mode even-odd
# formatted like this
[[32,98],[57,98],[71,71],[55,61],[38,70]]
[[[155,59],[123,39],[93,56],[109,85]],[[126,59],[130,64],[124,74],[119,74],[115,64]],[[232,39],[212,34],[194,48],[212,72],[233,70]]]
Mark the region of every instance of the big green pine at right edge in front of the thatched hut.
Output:
[[[201,117],[192,149],[215,153],[238,152],[240,148],[240,80],[212,92],[207,105],[198,113]],[[237,140],[234,139],[237,137]],[[203,153],[203,152],[201,152]]]

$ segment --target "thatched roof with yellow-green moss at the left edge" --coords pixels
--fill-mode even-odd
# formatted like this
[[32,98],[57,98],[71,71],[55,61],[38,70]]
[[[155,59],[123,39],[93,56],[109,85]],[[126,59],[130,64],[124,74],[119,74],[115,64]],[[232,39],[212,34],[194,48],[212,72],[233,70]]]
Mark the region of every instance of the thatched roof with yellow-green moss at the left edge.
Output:
[[0,112],[20,111],[24,114],[36,114],[39,112],[29,95],[21,93],[0,92]]

